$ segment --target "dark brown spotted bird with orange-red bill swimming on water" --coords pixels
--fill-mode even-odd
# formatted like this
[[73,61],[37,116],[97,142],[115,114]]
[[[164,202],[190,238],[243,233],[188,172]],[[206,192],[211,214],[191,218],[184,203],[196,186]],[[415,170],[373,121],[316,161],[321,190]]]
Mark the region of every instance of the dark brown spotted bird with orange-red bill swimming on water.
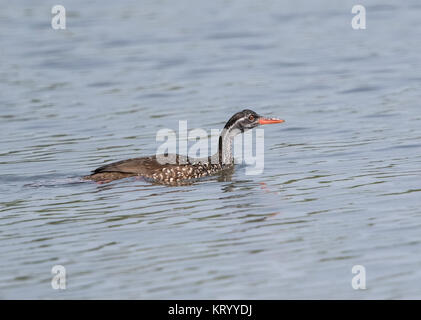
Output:
[[259,125],[281,123],[284,120],[266,118],[245,109],[234,114],[219,136],[218,152],[206,158],[191,158],[178,154],[161,154],[113,162],[95,169],[85,180],[106,183],[127,177],[142,177],[161,184],[177,185],[185,181],[217,174],[234,166],[232,145],[237,134]]

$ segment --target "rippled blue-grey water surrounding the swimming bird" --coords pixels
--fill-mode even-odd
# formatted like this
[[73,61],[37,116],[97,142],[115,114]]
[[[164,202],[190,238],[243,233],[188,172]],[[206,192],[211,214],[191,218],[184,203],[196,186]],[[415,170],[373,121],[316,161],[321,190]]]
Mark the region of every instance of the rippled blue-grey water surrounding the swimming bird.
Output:
[[[0,298],[421,298],[418,0],[58,4],[1,1]],[[78,183],[244,107],[260,175]]]

